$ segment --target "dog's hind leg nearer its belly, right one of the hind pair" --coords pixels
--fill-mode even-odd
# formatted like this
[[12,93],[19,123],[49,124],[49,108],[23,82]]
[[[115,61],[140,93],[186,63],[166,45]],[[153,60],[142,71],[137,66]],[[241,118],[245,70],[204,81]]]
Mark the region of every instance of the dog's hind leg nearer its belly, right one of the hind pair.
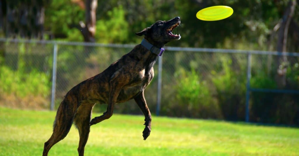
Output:
[[91,120],[93,106],[94,104],[91,103],[81,103],[74,117],[74,123],[78,128],[80,136],[78,147],[79,156],[84,155],[84,148],[90,132],[89,122]]

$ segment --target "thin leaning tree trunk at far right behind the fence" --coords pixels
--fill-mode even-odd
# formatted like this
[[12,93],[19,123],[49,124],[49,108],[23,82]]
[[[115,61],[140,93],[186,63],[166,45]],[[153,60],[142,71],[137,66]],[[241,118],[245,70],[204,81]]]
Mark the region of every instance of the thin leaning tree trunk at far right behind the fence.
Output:
[[[282,22],[278,32],[278,41],[277,41],[278,52],[283,52],[283,53],[286,52],[288,30],[289,30],[290,22],[295,12],[295,6],[296,6],[296,1],[290,0],[285,12],[283,13]],[[288,65],[287,57],[284,55],[278,56],[277,65],[278,65],[277,75],[276,75],[277,86],[279,88],[283,88],[286,86],[286,69]]]

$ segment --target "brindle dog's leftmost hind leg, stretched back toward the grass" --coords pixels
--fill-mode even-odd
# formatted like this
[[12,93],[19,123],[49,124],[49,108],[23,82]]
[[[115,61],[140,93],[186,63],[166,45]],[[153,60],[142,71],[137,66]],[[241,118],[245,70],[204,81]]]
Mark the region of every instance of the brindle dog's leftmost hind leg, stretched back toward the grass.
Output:
[[65,136],[71,129],[73,118],[73,110],[71,109],[71,107],[68,106],[68,103],[62,101],[57,110],[53,126],[53,134],[51,135],[50,139],[47,142],[45,142],[44,151],[42,153],[43,156],[48,155],[48,152],[51,149],[51,147],[63,138],[65,138]]

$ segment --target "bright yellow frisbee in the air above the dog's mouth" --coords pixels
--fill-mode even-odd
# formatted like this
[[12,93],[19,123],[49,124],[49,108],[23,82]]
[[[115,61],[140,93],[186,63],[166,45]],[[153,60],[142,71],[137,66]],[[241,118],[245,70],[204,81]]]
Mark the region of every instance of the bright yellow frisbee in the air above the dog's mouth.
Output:
[[231,7],[224,5],[217,5],[213,7],[206,7],[196,13],[196,17],[204,21],[217,21],[228,18],[234,13]]

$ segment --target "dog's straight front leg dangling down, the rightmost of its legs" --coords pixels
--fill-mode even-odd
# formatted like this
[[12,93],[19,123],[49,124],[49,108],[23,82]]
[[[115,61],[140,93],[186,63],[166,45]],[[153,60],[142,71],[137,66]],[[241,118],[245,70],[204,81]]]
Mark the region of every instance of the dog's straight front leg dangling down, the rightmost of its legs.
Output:
[[150,134],[150,131],[152,129],[152,115],[150,114],[150,111],[149,111],[149,108],[147,106],[147,102],[144,98],[144,91],[142,91],[137,97],[134,98],[135,102],[138,104],[139,108],[141,109],[141,111],[143,112],[144,114],[144,125],[145,125],[145,128],[144,128],[144,131],[142,132],[142,136],[143,136],[143,139],[146,140],[147,137],[149,136]]

